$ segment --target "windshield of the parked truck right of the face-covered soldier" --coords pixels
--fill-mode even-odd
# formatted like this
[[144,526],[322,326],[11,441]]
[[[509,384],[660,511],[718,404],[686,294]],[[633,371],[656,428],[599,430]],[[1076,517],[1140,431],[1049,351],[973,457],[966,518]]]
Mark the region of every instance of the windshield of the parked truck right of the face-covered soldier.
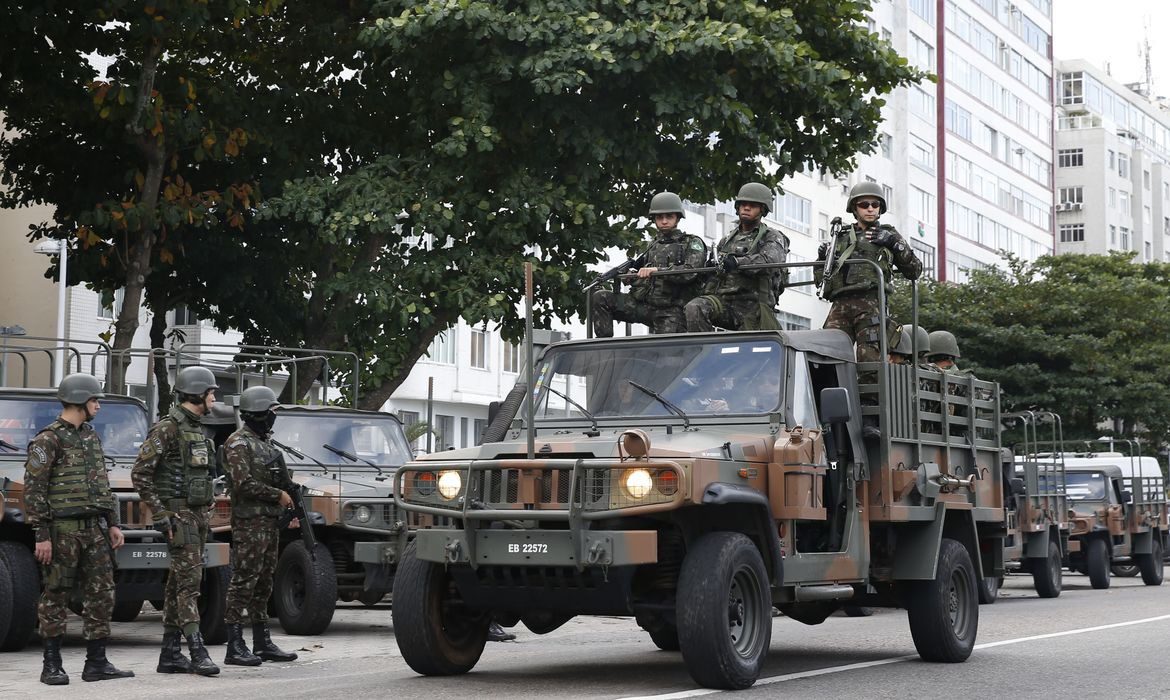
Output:
[[[372,467],[347,460],[325,445],[370,460],[379,467],[400,467],[411,460],[402,426],[390,416],[277,411],[273,438],[322,464],[340,465],[346,469]],[[285,459],[300,461],[292,455],[285,455]],[[312,459],[307,464],[312,464]]]

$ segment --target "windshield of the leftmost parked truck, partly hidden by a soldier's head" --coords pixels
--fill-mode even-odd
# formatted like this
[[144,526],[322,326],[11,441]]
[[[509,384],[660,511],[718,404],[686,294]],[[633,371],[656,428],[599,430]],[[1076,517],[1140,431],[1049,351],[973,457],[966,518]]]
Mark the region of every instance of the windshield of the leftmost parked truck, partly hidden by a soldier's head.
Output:
[[[61,414],[57,399],[0,399],[0,439],[28,448],[29,440]],[[94,430],[102,438],[102,451],[111,457],[135,457],[146,439],[146,411],[138,404],[103,400]]]

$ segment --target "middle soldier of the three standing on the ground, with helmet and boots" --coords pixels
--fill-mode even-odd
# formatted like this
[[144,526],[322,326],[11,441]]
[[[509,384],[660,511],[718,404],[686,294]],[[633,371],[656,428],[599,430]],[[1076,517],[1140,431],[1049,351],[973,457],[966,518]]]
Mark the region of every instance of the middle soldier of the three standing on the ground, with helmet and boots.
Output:
[[[215,404],[213,392],[219,386],[211,370],[190,366],[179,371],[174,387],[179,404],[151,427],[131,471],[135,488],[153,514],[154,529],[166,537],[171,557],[157,671],[215,675],[219,666],[204,646],[198,603],[215,472],[215,448],[204,435],[200,418]],[[180,633],[187,638],[190,661],[180,650]]]

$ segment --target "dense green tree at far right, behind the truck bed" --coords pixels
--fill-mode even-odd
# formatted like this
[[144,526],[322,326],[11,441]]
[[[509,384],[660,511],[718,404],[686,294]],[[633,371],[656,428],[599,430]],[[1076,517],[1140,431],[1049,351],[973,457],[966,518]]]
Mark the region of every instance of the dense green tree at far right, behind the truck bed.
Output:
[[[1066,438],[1113,432],[1162,445],[1170,435],[1170,265],[1130,253],[1007,259],[965,284],[921,289],[923,327],[949,330],[962,364],[998,382],[1005,410],[1047,410]],[[909,295],[895,315],[910,318]]]

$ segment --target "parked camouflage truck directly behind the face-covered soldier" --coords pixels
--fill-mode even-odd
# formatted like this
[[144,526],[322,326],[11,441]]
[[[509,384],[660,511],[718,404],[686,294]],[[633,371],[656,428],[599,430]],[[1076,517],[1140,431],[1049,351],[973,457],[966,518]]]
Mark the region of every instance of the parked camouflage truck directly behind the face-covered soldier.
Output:
[[373,605],[391,591],[408,529],[391,483],[411,448],[390,413],[281,406],[276,414],[273,439],[302,488],[317,545],[310,553],[296,529],[282,533],[273,606],[285,632],[319,634],[338,599]]

